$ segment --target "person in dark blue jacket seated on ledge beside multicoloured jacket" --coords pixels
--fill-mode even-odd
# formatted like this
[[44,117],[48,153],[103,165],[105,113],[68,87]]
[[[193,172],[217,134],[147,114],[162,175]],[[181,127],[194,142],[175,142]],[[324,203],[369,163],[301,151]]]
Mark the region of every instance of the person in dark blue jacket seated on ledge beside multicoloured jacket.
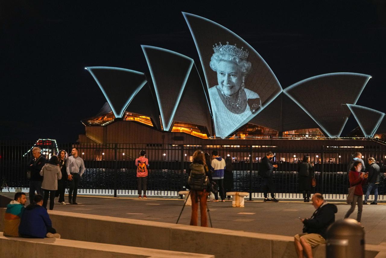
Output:
[[42,205],[43,196],[35,195],[34,203],[24,209],[19,225],[20,236],[60,238],[60,235],[52,228],[52,222],[47,213],[47,209],[42,207]]

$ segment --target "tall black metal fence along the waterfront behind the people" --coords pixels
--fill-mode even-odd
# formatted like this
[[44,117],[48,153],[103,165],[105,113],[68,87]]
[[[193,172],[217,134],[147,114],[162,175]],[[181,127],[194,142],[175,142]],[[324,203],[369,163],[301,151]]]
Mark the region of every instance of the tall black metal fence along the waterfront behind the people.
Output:
[[[175,144],[57,144],[54,140],[40,142],[0,142],[0,189],[28,188],[27,164],[32,159],[32,147],[42,149],[47,159],[58,150],[71,153],[72,147],[79,149],[78,155],[85,161],[86,171],[82,176],[80,193],[135,195],[137,193],[135,158],[146,150],[149,159],[148,195],[173,195],[185,188],[188,178],[186,169],[193,152],[197,149],[211,154],[217,150],[222,157],[230,157],[233,165],[233,191],[251,193],[249,198],[262,197],[263,179],[257,175],[261,158],[272,151],[274,182],[278,198],[299,198],[298,162],[303,155],[310,155],[315,162],[317,186],[312,192],[320,192],[327,198],[345,198],[348,188],[347,166],[355,152],[361,152],[365,164],[374,157],[381,166],[381,183],[378,187],[380,199],[384,198],[386,159],[384,146],[321,146],[296,145],[175,145]],[[342,145],[342,143],[339,143]],[[366,186],[364,187],[366,191]]]

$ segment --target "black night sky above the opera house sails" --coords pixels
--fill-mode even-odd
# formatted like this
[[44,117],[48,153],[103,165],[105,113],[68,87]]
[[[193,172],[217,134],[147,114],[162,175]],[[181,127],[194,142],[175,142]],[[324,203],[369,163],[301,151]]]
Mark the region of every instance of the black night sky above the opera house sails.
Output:
[[[372,75],[357,104],[386,112],[383,0],[35,2],[0,2],[2,140],[77,140],[85,131],[80,120],[106,102],[84,67],[148,72],[141,44],[190,56],[201,69],[181,12],[238,34],[283,88],[323,73]],[[356,126],[351,116],[344,133]]]

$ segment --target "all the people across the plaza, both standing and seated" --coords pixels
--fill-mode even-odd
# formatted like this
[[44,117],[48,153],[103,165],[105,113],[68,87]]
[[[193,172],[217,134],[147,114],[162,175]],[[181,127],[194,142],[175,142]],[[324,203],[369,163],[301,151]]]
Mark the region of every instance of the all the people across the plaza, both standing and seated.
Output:
[[[34,158],[29,163],[30,178],[30,204],[27,207],[25,193],[16,193],[14,200],[7,205],[5,212],[4,235],[22,237],[55,237],[60,235],[52,227],[52,222],[47,213],[47,203],[49,209],[54,208],[54,198],[59,196],[59,203],[64,203],[64,190],[69,183],[69,203],[76,203],[76,193],[80,178],[85,171],[83,159],[78,156],[78,149],[71,150],[68,157],[64,150],[59,151],[58,156],[52,156],[48,162],[40,154],[40,149],[35,147],[32,150]],[[273,180],[273,170],[278,167],[272,164],[273,152],[267,152],[261,159],[259,176],[263,179],[262,190],[264,192],[264,202],[278,202],[275,198],[275,185]],[[380,167],[373,157],[367,159],[368,166],[365,166],[362,154],[355,153],[355,157],[348,166],[349,185],[352,190],[350,197],[350,208],[344,218],[348,218],[354,209],[357,210],[357,222],[360,226],[362,206],[368,204],[370,192],[374,191],[374,201],[378,202],[378,185],[380,183]],[[141,150],[139,157],[135,160],[137,166],[137,183],[139,198],[146,197],[146,185],[149,168],[149,160],[146,158],[146,151]],[[324,200],[321,193],[315,193],[311,198],[311,190],[314,186],[314,164],[309,155],[304,155],[303,160],[298,165],[299,190],[303,193],[304,202],[312,201],[315,212],[310,218],[299,218],[303,223],[303,233],[295,236],[295,248],[298,257],[312,257],[312,248],[325,243],[326,230],[335,221],[337,207]],[[212,155],[196,150],[193,160],[187,170],[189,175],[186,187],[190,190],[192,203],[190,225],[198,225],[198,207],[200,207],[201,226],[207,227],[207,201],[210,193],[214,194],[213,202],[225,202],[226,193],[233,188],[233,167],[232,159],[223,159],[217,152],[212,151]],[[362,186],[368,183],[367,191],[363,200]],[[37,194],[35,195],[35,191]],[[268,198],[271,194],[271,199]],[[350,194],[349,194],[350,195]],[[349,197],[348,197],[349,200]],[[363,226],[362,226],[363,227]]]

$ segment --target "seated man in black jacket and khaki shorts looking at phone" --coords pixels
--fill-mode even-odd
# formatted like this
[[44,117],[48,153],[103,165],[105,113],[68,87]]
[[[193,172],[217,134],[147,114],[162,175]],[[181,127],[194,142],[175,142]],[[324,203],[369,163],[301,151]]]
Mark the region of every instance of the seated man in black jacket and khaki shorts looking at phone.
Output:
[[312,196],[312,205],[315,212],[310,219],[301,219],[303,222],[303,234],[295,236],[295,249],[299,258],[303,258],[303,251],[308,258],[312,258],[312,248],[319,244],[325,244],[327,227],[335,222],[336,205],[324,201],[323,195],[315,193]]

